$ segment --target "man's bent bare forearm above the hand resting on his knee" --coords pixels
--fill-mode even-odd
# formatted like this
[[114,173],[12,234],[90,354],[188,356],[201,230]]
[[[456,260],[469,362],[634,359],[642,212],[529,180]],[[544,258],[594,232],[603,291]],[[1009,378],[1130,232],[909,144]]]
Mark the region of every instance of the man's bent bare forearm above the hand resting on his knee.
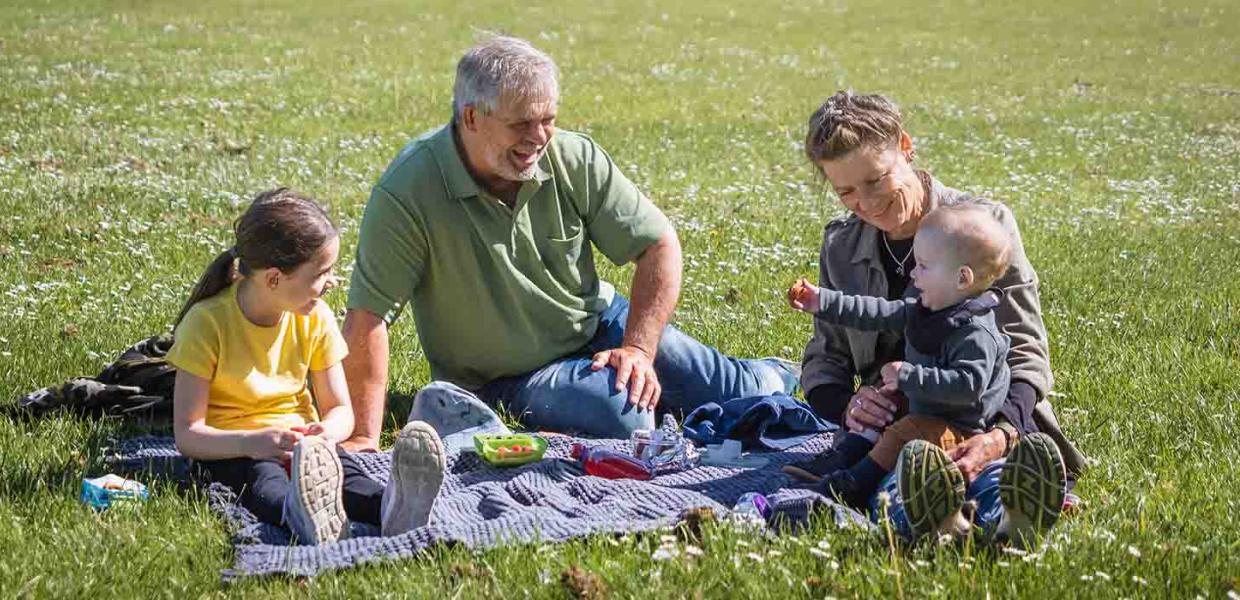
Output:
[[675,231],[668,231],[637,257],[629,322],[625,324],[625,346],[635,346],[655,357],[663,326],[681,295],[681,242]]

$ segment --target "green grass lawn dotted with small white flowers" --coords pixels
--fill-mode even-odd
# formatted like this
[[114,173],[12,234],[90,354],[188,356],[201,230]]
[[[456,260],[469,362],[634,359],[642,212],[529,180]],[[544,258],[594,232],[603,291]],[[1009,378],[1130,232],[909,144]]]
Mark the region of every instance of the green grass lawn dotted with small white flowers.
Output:
[[[255,191],[306,190],[347,227],[404,141],[446,119],[477,29],[563,71],[562,126],[598,139],[676,222],[677,324],[795,357],[780,290],[841,212],[800,155],[838,88],[892,94],[919,162],[1007,202],[1042,276],[1069,434],[1096,461],[1039,554],[899,550],[817,523],[593,538],[312,580],[219,583],[232,552],[193,491],[140,511],[76,495],[117,423],[0,417],[0,596],[570,594],[1213,596],[1240,588],[1240,7],[1027,2],[2,2],[0,399],[91,374],[166,329]],[[347,270],[347,268],[346,268]],[[629,269],[605,269],[621,289]],[[336,294],[337,306],[343,294]],[[428,372],[403,319],[392,390]],[[401,410],[393,410],[394,424]],[[655,560],[661,547],[680,557]],[[663,552],[660,555],[670,554]]]

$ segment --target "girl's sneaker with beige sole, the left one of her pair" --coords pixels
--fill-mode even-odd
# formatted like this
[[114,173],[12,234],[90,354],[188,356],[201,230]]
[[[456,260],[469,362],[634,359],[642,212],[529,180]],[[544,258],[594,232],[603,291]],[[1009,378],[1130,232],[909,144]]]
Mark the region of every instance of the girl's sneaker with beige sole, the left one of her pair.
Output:
[[343,481],[340,457],[330,441],[312,435],[293,446],[284,523],[299,543],[316,545],[348,537]]

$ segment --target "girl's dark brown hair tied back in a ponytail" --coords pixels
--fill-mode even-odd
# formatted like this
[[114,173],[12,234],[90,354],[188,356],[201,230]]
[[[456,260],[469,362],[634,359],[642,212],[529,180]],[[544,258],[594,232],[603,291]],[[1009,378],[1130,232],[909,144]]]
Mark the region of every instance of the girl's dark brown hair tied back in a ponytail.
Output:
[[327,212],[314,198],[288,187],[254,196],[246,213],[233,223],[233,233],[236,243],[219,253],[198,278],[193,293],[176,316],[176,325],[181,324],[191,306],[219,294],[238,275],[272,267],[291,273],[340,236]]

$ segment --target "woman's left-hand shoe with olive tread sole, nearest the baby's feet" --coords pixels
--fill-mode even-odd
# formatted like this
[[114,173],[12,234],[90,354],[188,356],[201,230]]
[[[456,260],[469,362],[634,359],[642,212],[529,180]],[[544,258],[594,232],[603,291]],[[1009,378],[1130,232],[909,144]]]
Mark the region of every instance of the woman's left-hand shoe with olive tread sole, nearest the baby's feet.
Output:
[[960,512],[965,505],[965,476],[947,452],[929,441],[913,440],[900,450],[895,469],[913,539],[926,534],[967,534],[968,522]]

